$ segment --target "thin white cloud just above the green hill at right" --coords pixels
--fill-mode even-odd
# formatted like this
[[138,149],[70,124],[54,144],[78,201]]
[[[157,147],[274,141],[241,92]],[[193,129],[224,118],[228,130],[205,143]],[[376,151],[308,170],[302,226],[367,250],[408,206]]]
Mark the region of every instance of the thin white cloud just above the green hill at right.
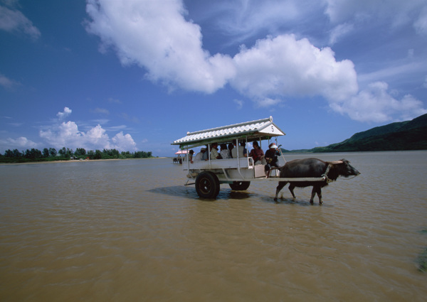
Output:
[[427,113],[420,100],[411,95],[396,99],[387,92],[388,88],[385,82],[374,82],[358,95],[344,102],[333,102],[330,107],[359,122],[405,121]]

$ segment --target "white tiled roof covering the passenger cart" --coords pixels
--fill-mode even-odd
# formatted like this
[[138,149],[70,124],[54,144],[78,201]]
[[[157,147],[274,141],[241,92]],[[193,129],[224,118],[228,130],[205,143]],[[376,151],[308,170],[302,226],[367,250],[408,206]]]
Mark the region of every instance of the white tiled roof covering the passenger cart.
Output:
[[[276,132],[270,131],[271,129]],[[244,122],[240,124],[233,124],[229,126],[221,126],[218,128],[206,129],[196,132],[188,132],[182,139],[177,139],[172,145],[191,145],[200,142],[206,144],[206,142],[214,141],[216,139],[227,139],[233,136],[253,136],[253,135],[266,135],[266,136],[280,136],[285,135],[278,126],[273,123],[273,117],[267,119],[258,119],[256,121]]]

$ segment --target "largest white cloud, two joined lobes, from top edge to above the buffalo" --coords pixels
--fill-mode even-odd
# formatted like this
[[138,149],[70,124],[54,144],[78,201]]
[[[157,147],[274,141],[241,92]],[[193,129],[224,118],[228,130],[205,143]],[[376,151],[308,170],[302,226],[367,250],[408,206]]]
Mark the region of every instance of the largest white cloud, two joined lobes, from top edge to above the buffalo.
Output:
[[100,36],[102,48],[114,48],[122,64],[144,67],[150,79],[168,85],[211,93],[230,82],[257,102],[278,95],[336,99],[357,90],[349,60],[337,62],[330,48],[292,35],[265,38],[234,58],[209,55],[201,28],[184,19],[178,0],[90,0],[86,10],[93,19],[87,29]]

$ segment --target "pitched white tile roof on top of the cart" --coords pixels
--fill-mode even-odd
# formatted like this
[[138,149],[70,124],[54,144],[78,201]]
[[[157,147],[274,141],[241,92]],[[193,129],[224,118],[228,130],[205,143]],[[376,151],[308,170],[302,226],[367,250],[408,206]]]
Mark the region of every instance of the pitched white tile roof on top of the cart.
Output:
[[221,126],[218,128],[206,129],[195,132],[187,132],[182,139],[177,139],[172,145],[179,145],[180,149],[187,149],[196,146],[221,143],[233,139],[248,139],[248,141],[258,141],[260,139],[270,139],[273,136],[282,136],[285,133],[273,123],[273,117],[258,119],[256,121]]

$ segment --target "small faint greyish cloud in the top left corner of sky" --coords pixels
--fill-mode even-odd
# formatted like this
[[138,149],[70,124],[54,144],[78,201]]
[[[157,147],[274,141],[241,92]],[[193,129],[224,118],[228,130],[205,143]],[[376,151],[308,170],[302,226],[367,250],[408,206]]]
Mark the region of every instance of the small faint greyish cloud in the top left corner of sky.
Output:
[[8,32],[21,32],[37,39],[41,36],[40,31],[33,23],[24,16],[21,11],[7,9],[0,6],[0,29]]

